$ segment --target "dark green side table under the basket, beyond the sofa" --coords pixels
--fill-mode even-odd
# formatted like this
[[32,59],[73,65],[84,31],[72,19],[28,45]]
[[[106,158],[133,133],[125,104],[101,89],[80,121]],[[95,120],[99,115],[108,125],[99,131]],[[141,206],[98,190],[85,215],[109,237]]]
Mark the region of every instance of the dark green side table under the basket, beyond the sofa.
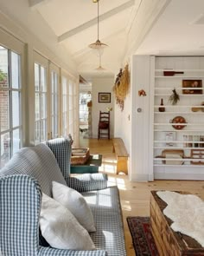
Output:
[[71,174],[95,174],[99,173],[102,163],[102,154],[91,154],[88,161],[83,165],[71,165]]

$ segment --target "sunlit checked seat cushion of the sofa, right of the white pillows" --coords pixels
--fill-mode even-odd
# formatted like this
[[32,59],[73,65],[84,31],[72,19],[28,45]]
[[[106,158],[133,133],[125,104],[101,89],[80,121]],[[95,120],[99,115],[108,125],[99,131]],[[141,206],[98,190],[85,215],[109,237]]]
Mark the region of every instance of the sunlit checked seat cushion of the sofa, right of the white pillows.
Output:
[[82,193],[92,209],[96,232],[90,233],[94,245],[108,256],[125,256],[124,226],[118,187]]

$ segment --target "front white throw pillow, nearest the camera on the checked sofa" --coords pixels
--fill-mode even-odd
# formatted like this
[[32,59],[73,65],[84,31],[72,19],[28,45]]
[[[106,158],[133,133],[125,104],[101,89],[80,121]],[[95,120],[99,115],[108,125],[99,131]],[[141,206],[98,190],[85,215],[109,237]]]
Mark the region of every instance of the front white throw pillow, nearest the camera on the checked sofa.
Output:
[[95,246],[86,229],[59,202],[42,194],[41,234],[58,249],[93,250]]

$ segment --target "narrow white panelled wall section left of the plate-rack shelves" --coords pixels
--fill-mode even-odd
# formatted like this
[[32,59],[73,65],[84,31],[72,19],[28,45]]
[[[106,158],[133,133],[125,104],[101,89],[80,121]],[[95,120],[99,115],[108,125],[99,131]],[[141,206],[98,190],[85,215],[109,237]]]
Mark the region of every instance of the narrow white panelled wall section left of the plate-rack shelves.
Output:
[[[131,181],[152,181],[150,162],[150,56],[132,56],[131,62]],[[146,96],[139,96],[139,90]]]

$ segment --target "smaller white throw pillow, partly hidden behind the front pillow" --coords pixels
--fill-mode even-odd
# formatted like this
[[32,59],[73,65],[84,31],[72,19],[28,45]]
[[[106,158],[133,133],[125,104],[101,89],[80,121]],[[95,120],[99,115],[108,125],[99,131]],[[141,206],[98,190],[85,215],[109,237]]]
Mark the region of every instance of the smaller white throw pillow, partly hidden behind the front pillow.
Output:
[[66,207],[88,232],[95,232],[96,227],[92,216],[92,210],[87,205],[84,197],[71,187],[64,186],[53,181],[53,198]]

